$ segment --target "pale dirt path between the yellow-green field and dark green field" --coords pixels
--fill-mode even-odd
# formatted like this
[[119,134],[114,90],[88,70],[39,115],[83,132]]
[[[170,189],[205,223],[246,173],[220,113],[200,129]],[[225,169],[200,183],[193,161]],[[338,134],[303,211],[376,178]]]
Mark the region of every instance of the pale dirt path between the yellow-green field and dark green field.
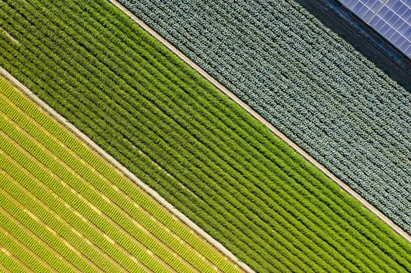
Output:
[[123,165],[121,165],[119,163],[119,161],[116,161],[116,159],[114,159],[114,157],[112,157],[111,155],[109,155],[108,153],[103,151],[103,149],[100,148],[95,142],[90,140],[90,138],[88,138],[87,135],[82,133],[82,131],[79,131],[79,129],[77,129],[77,127],[75,127],[70,122],[68,122],[66,120],[66,118],[64,118],[63,116],[61,116],[57,112],[55,112],[55,110],[53,108],[51,108],[44,101],[39,99],[38,96],[36,96],[31,90],[29,90],[27,87],[25,87],[23,85],[23,83],[18,81],[18,79],[14,78],[10,73],[8,73],[7,70],[5,70],[5,68],[3,68],[1,66],[0,66],[0,74],[3,75],[3,77],[8,79],[9,81],[11,81],[14,84],[14,86],[16,86],[19,90],[24,92],[29,97],[29,99],[32,99],[32,101],[34,101],[34,103],[37,103],[38,105],[40,105],[40,107],[45,109],[45,111],[48,112],[51,116],[53,116],[53,118],[58,120],[58,122],[60,122],[64,127],[69,129],[71,131],[71,133],[74,133],[77,136],[77,138],[79,138],[80,140],[82,140],[83,142],[88,144],[88,146],[90,148],[92,148],[97,153],[99,153],[99,155],[101,155],[101,157],[103,157],[103,159],[107,160],[115,168],[117,168],[118,170],[123,172],[123,174],[125,174],[125,176],[127,176],[129,179],[134,181],[134,183],[136,183],[139,187],[141,187],[142,190],[144,190],[145,192],[147,192],[147,194],[149,194],[155,200],[157,200],[158,203],[160,203],[163,207],[165,207],[173,215],[177,216],[177,218],[179,220],[181,220],[182,222],[184,222],[184,224],[186,224],[190,229],[194,230],[200,237],[203,237],[203,239],[206,239],[206,241],[208,243],[210,243],[214,248],[219,250],[223,254],[223,256],[228,257],[229,259],[231,259],[234,263],[236,263],[236,265],[238,265],[245,272],[255,273],[253,270],[251,270],[251,268],[249,268],[249,266],[247,264],[243,263],[242,261],[239,261],[238,258],[234,254],[232,254],[232,252],[230,252],[229,250],[227,250],[227,248],[225,248],[225,246],[223,246],[216,239],[214,239],[213,237],[208,235],[208,233],[203,231],[199,226],[197,226],[197,224],[195,224],[195,222],[192,222],[183,213],[181,213],[180,211],[175,209],[175,207],[173,207],[173,205],[171,205],[164,198],[162,198],[162,196],[160,196],[160,194],[158,194],[158,192],[155,192],[155,190],[151,189],[151,187],[146,185],[138,177],[136,177],[132,172],[127,170],[127,168],[125,168]]

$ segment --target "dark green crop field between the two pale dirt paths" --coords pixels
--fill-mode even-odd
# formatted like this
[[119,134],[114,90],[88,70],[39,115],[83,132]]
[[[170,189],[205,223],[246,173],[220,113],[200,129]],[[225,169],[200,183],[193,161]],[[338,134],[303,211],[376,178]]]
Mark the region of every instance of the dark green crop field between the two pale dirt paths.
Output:
[[0,66],[255,272],[411,271],[406,239],[108,1],[0,1],[0,25]]

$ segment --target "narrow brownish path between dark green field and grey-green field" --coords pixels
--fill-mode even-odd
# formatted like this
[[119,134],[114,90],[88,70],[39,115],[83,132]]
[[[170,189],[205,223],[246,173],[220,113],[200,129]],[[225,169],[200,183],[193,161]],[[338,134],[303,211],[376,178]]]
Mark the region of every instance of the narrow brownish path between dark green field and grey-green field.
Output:
[[196,70],[197,73],[199,73],[201,76],[203,76],[206,80],[210,81],[210,83],[212,83],[212,85],[215,88],[217,88],[219,91],[223,92],[223,94],[226,94],[227,96],[229,96],[229,99],[232,99],[233,101],[238,103],[247,112],[249,112],[249,114],[251,114],[251,116],[253,116],[257,120],[262,122],[266,127],[268,127],[277,136],[277,138],[280,138],[280,139],[284,140],[284,142],[286,142],[288,145],[290,145],[295,151],[297,151],[297,153],[299,153],[302,157],[304,157],[304,159],[306,159],[308,162],[310,162],[310,164],[316,166],[316,168],[319,168],[325,174],[325,176],[327,176],[329,179],[331,179],[332,181],[337,183],[341,187],[342,190],[344,190],[345,192],[347,192],[348,194],[350,194],[351,196],[353,196],[354,198],[359,200],[363,207],[365,207],[366,209],[368,209],[369,211],[374,213],[379,219],[381,219],[386,224],[388,224],[388,226],[390,226],[390,228],[393,229],[393,231],[395,231],[397,234],[401,235],[408,242],[411,243],[411,236],[408,235],[408,233],[406,233],[406,231],[403,231],[403,229],[401,229],[399,226],[397,226],[397,224],[395,224],[392,220],[390,220],[390,218],[385,216],[381,211],[379,211],[377,208],[375,208],[373,205],[371,205],[367,200],[362,198],[362,196],[360,196],[360,194],[358,194],[354,190],[352,190],[351,187],[349,187],[349,185],[345,184],[343,181],[341,181],[336,176],[334,176],[334,174],[332,174],[332,172],[327,170],[327,168],[322,166],[313,157],[308,155],[308,153],[306,153],[306,151],[304,151],[302,148],[297,146],[297,144],[295,144],[294,142],[292,142],[292,140],[287,138],[286,135],[284,135],[282,132],[280,132],[275,127],[273,127],[273,125],[271,125],[271,123],[266,121],[264,118],[262,118],[262,116],[260,116],[260,114],[258,114],[253,109],[251,109],[251,107],[249,107],[249,105],[247,105],[246,103],[244,103],[243,101],[238,99],[238,97],[236,95],[234,95],[232,92],[227,90],[227,88],[225,88],[221,83],[219,83],[219,81],[216,81],[216,79],[211,77],[202,68],[197,66],[197,64],[195,64],[195,62],[192,62],[192,60],[190,60],[188,57],[186,57],[186,55],[184,55],[181,51],[179,51],[176,47],[174,47],[173,44],[171,44],[166,39],[164,39],[162,36],[160,36],[160,34],[158,34],[155,30],[151,29],[151,27],[146,25],[137,16],[132,14],[132,12],[127,10],[127,8],[125,8],[123,5],[121,5],[121,3],[119,3],[118,1],[116,1],[116,0],[108,0],[108,1],[110,3],[112,3],[113,5],[115,5],[117,8],[123,10],[123,12],[125,12],[125,14],[130,16],[136,23],[138,23],[138,25],[142,29],[149,32],[149,34],[151,34],[151,36],[153,36],[154,38],[156,38],[157,40],[162,42],[162,44],[164,44],[164,46],[167,49],[173,51],[173,53],[175,53],[175,55],[180,57],[184,62],[186,62],[186,64],[188,64],[191,68]]

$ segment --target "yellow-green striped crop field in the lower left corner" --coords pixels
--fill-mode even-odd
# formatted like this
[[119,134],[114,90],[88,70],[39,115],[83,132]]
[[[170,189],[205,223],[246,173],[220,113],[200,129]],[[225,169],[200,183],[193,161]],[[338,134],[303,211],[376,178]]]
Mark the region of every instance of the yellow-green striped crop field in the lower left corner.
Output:
[[3,79],[0,268],[241,272]]

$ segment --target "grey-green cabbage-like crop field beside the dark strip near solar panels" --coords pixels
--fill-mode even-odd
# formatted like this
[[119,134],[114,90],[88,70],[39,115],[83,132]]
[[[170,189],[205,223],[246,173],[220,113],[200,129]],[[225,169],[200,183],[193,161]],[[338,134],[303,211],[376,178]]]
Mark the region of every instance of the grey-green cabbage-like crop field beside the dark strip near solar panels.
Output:
[[292,0],[120,0],[411,234],[411,96]]

